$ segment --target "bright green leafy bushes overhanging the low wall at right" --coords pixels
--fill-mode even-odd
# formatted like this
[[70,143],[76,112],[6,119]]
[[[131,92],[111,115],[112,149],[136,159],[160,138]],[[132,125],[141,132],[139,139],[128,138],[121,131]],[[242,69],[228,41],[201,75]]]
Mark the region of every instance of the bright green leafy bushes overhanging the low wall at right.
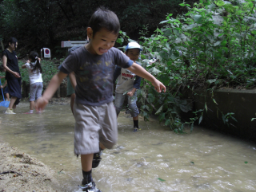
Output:
[[[142,57],[150,55],[158,59],[152,65],[147,62],[143,66],[167,87],[165,94],[158,94],[145,81],[142,98],[153,96],[150,100],[154,108],[142,103],[144,118],[154,110],[160,122],[183,133],[184,125],[189,124],[193,130],[194,123],[201,123],[203,113],[208,110],[205,104],[204,109],[194,112],[194,118],[182,123],[180,112],[191,110],[182,95],[185,88],[193,91],[194,88],[255,87],[255,2],[232,3],[200,0],[191,8],[182,2],[180,6],[187,8],[186,14],[176,18],[168,14],[166,20],[160,22],[162,27],[150,37],[142,31],[146,51]],[[214,97],[212,100],[217,106]],[[234,113],[221,113],[227,126],[231,119],[235,120]]]

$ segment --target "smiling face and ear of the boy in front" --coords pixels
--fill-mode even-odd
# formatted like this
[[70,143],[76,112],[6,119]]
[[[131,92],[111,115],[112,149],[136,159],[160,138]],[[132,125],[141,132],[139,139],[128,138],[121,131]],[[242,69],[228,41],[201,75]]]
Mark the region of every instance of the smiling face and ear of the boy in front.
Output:
[[111,33],[105,28],[100,29],[93,35],[93,30],[88,27],[87,34],[90,38],[90,43],[87,44],[86,49],[95,55],[102,55],[103,53],[106,53],[114,46],[114,43],[118,38],[118,34]]

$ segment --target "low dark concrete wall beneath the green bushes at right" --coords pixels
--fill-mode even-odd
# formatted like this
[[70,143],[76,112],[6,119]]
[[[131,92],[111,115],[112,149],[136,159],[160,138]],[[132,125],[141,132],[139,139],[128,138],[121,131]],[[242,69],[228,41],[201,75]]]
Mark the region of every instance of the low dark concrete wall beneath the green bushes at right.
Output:
[[[187,96],[194,99],[194,109],[205,108],[202,123],[203,127],[221,131],[230,135],[238,136],[242,139],[250,139],[256,141],[256,90],[234,90],[234,89],[218,89],[214,91],[214,104],[211,98],[212,94],[205,90],[197,90],[194,93],[186,93]],[[230,119],[229,126],[223,123],[222,113],[226,115],[228,112],[234,112],[234,118],[238,121]],[[186,115],[188,116],[188,114]]]

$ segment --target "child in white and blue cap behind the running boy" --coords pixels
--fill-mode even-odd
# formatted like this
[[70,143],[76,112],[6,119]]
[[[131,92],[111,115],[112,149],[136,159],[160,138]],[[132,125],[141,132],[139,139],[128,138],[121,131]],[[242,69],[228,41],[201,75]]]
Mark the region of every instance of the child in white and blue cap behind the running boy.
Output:
[[[130,58],[131,61],[136,62],[138,60],[139,54],[142,51],[142,48],[136,42],[130,42],[126,46],[126,56]],[[137,63],[138,64],[138,63]],[[116,67],[114,71],[114,81],[118,78],[118,83],[115,88],[115,98],[114,98],[114,107],[119,115],[119,112],[122,110],[122,104],[128,96],[128,105],[130,109],[130,115],[134,120],[134,132],[138,131],[138,108],[136,105],[137,101],[137,92],[136,90],[140,88],[141,77],[136,76],[134,72],[130,72],[128,69]],[[126,95],[123,93],[127,92]]]

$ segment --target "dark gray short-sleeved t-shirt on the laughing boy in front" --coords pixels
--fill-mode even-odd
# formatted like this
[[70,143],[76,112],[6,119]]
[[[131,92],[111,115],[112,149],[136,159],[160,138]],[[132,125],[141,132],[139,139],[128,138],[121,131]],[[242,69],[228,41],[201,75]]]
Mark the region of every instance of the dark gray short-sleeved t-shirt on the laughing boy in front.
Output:
[[102,55],[93,55],[82,46],[71,52],[59,69],[65,73],[74,72],[78,104],[99,106],[113,100],[115,65],[129,68],[133,63],[134,61],[114,47]]

